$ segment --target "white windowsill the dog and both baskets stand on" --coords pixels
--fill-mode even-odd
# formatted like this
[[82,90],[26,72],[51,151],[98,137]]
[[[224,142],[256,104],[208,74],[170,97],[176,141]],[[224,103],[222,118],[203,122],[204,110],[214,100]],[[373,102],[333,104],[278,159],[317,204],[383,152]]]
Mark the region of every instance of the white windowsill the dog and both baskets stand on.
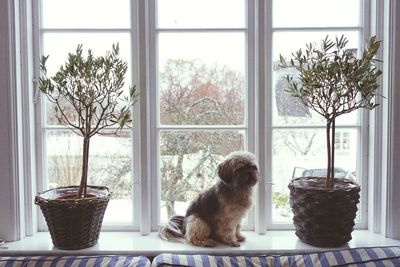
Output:
[[[0,246],[0,255],[91,255],[91,254],[129,254],[152,257],[160,253],[174,252],[183,254],[225,254],[225,255],[262,255],[294,254],[332,250],[318,248],[301,242],[294,231],[268,231],[266,235],[244,232],[247,241],[239,248],[219,245],[215,248],[201,248],[189,244],[172,243],[161,240],[157,233],[142,236],[137,232],[102,232],[97,245],[83,250],[59,250],[53,247],[47,232],[37,233],[20,241]],[[353,239],[340,248],[400,246],[400,240],[384,238],[367,230],[356,230]],[[334,248],[338,249],[338,248]]]

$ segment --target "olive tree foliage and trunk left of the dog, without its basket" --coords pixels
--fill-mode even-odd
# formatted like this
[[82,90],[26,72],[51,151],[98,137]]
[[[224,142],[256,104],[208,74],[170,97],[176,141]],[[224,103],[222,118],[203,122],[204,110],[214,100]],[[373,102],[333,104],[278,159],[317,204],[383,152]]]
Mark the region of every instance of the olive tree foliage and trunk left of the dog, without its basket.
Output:
[[86,196],[90,138],[102,130],[117,126],[111,134],[132,122],[131,109],[137,100],[136,87],[124,95],[127,63],[119,57],[119,46],[113,45],[104,56],[95,57],[89,49],[83,55],[82,45],[51,77],[46,61],[40,61],[39,89],[54,105],[58,122],[83,137],[82,176],[77,198]]

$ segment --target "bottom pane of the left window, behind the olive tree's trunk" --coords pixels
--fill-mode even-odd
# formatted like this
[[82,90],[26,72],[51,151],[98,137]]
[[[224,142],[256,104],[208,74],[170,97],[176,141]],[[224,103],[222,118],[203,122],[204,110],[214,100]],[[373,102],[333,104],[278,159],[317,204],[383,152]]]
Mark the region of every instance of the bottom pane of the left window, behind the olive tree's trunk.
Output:
[[[120,132],[119,137],[96,135],[90,140],[88,184],[107,186],[113,193],[104,223],[131,223],[133,184],[130,132]],[[82,138],[72,131],[46,131],[48,188],[79,185],[82,142]]]

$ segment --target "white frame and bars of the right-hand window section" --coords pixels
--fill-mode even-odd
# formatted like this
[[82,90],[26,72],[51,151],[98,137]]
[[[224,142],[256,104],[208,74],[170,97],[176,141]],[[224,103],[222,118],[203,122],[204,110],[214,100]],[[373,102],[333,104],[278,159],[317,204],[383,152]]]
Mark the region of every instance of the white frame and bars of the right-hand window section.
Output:
[[[277,1],[277,0],[274,0]],[[360,9],[361,9],[361,20],[360,21],[360,26],[357,27],[274,27],[272,23],[272,5],[273,1],[266,1],[265,3],[265,39],[266,40],[273,40],[273,34],[276,32],[313,32],[313,31],[326,31],[326,32],[332,32],[332,31],[358,31],[360,35],[360,42],[359,42],[359,48],[363,48],[364,44],[364,36],[369,36],[369,21],[370,21],[370,14],[369,12],[369,7],[370,7],[370,1],[369,0],[359,0],[360,1]],[[261,40],[260,40],[261,41]],[[265,42],[265,41],[264,41]],[[272,86],[272,72],[273,72],[273,66],[272,66],[272,42],[267,44],[266,47],[267,49],[264,50],[265,52],[264,58],[265,58],[265,90],[267,91],[266,96],[265,96],[265,105],[267,105],[267,110],[270,108],[268,111],[268,114],[272,114],[272,90],[274,89]],[[261,45],[260,45],[261,46]],[[270,62],[270,64],[269,64]],[[260,91],[262,91],[262,88],[259,88]],[[266,118],[265,122],[266,128],[267,128],[267,136],[270,138],[266,140],[266,147],[269,148],[269,157],[266,159],[266,177],[269,179],[267,180],[266,184],[266,195],[267,195],[267,201],[269,201],[270,205],[266,207],[266,227],[268,230],[274,230],[274,229],[294,229],[293,224],[288,224],[288,223],[273,223],[272,221],[272,186],[273,186],[273,181],[272,181],[272,134],[274,130],[279,130],[279,129],[325,129],[324,126],[307,126],[307,125],[295,125],[295,126],[286,126],[286,125],[278,125],[274,126],[272,123],[272,116],[269,118]],[[367,176],[367,156],[368,156],[368,113],[365,111],[361,112],[361,118],[360,121],[355,124],[355,125],[337,125],[337,129],[340,128],[345,128],[345,129],[356,129],[359,132],[359,140],[358,140],[358,149],[357,149],[357,174],[362,177],[361,184],[364,185],[362,186],[362,193],[360,194],[360,222],[357,222],[355,225],[355,228],[357,229],[366,229],[367,227],[367,190],[364,189],[366,188],[367,181],[368,181],[368,176]],[[363,142],[361,143],[361,140]],[[268,150],[266,150],[268,151]],[[269,196],[269,197],[268,197]]]

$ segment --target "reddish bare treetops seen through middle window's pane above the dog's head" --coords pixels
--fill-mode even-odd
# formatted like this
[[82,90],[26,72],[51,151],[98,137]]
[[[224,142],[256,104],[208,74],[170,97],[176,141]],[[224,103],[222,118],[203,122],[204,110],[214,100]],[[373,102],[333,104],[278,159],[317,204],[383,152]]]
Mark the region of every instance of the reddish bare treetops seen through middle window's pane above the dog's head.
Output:
[[160,121],[167,125],[244,122],[243,76],[196,60],[168,60],[160,74]]

